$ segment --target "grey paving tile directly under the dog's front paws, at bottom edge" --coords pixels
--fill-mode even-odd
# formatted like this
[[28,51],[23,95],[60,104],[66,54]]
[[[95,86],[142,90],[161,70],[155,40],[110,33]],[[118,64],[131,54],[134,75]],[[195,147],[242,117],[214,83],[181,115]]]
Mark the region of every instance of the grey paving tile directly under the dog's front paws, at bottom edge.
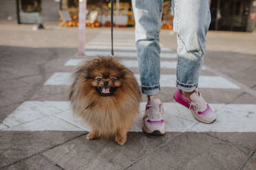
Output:
[[88,141],[82,136],[43,154],[64,169],[121,169],[158,145],[160,142],[155,139],[129,132],[123,146],[114,143],[114,139]]

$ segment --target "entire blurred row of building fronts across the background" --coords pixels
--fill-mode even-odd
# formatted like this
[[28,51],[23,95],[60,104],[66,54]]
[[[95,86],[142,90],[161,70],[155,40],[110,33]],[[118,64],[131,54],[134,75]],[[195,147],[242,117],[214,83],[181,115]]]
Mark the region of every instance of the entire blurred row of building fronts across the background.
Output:
[[[253,32],[256,0],[210,0],[211,30]],[[87,27],[109,27],[110,8],[106,0],[87,0]],[[114,25],[134,27],[131,0],[116,0]],[[164,0],[162,29],[172,29],[171,0]],[[78,0],[1,0],[0,23],[59,23],[78,27]]]

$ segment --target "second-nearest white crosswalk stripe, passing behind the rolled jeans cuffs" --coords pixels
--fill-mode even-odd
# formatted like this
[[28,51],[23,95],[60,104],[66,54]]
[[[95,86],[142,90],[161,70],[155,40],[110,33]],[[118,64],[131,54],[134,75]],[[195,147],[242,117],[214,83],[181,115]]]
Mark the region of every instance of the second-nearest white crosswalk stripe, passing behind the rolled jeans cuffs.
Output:
[[[140,82],[140,75],[135,74],[138,82]],[[52,86],[69,86],[72,84],[72,73],[54,73],[44,85],[52,85]],[[175,87],[176,86],[176,75],[164,75],[162,74],[160,77],[160,84],[162,87]],[[224,79],[220,76],[213,75],[201,75],[198,87],[200,88],[239,88],[232,82]]]

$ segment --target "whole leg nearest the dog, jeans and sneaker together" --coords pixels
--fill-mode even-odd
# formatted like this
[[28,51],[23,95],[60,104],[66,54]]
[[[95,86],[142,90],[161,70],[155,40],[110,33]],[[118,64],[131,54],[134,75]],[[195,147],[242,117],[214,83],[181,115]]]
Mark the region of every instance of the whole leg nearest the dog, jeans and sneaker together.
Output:
[[164,134],[163,109],[158,99],[162,0],[132,0],[132,3],[140,82],[142,93],[148,96],[142,129],[147,134]]

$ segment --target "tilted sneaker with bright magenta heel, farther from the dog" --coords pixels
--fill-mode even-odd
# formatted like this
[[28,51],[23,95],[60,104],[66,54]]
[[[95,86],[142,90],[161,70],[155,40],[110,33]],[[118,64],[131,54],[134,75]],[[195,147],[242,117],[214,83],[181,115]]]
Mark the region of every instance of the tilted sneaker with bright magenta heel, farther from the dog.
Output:
[[174,94],[174,99],[179,104],[189,108],[193,117],[202,123],[213,123],[216,119],[216,114],[211,110],[210,106],[206,104],[198,88],[190,96],[191,101],[182,95],[182,90],[178,89]]

